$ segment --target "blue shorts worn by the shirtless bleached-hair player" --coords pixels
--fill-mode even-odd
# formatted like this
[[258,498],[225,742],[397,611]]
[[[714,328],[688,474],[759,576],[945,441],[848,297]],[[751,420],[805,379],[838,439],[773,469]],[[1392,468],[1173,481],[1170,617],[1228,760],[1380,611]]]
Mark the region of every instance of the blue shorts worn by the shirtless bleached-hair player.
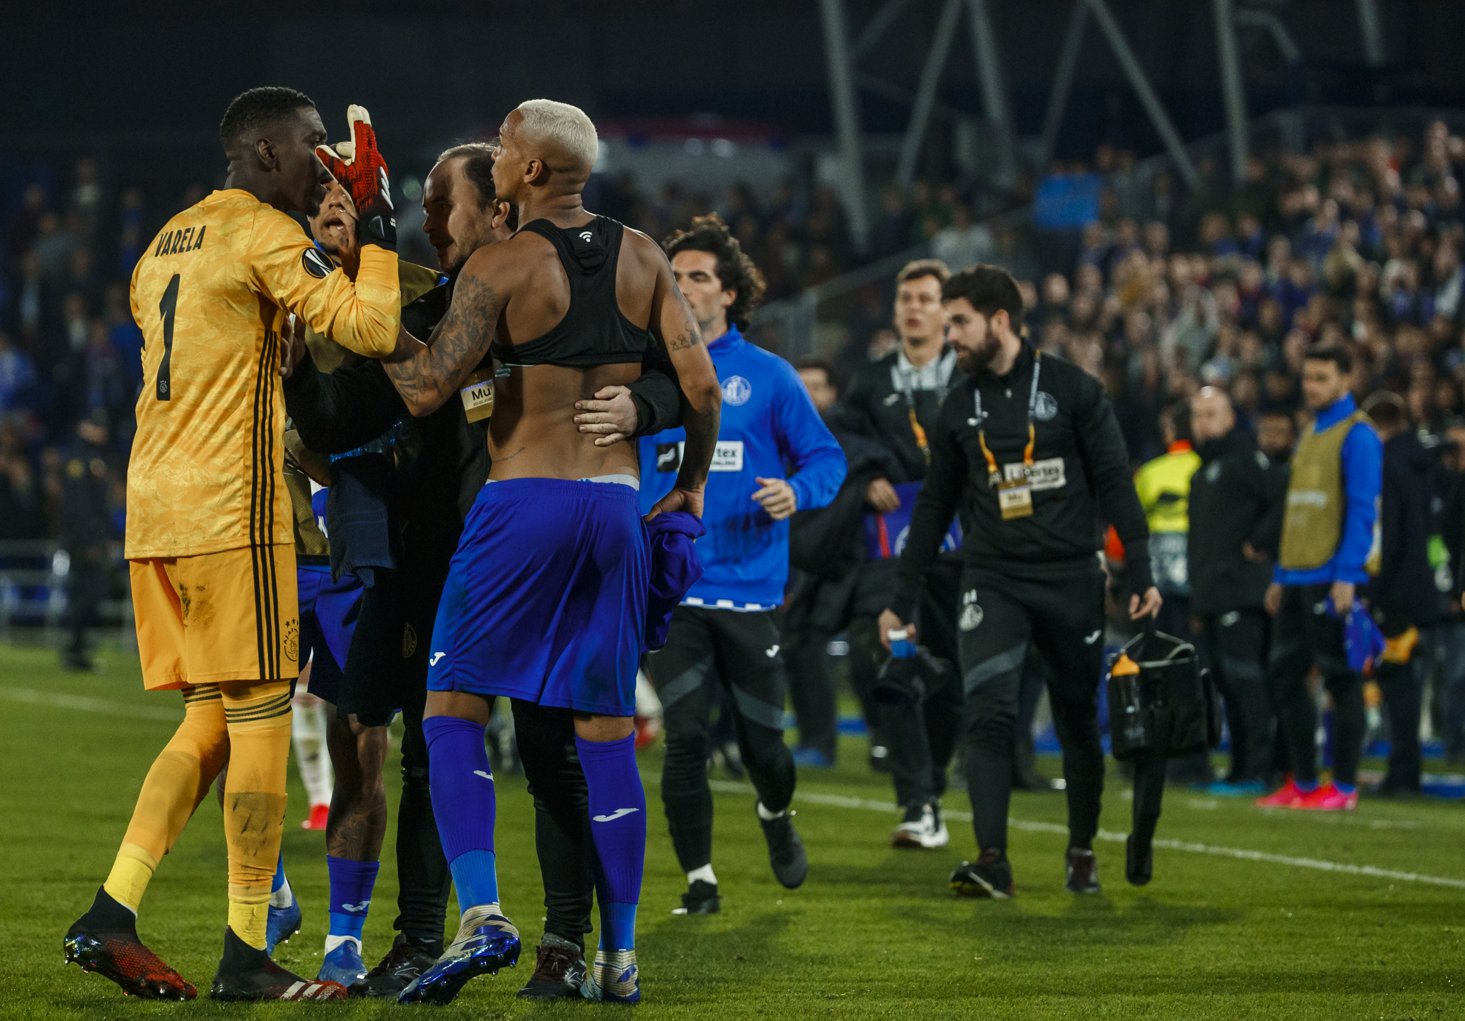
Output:
[[649,571],[631,486],[489,482],[448,568],[428,690],[634,715]]

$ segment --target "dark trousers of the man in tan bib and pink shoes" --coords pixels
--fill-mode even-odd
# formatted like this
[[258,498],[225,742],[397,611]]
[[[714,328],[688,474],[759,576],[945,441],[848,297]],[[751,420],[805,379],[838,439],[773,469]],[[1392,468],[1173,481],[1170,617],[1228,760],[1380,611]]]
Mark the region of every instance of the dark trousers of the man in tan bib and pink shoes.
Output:
[[1307,690],[1313,664],[1323,671],[1323,684],[1333,696],[1333,778],[1358,782],[1358,760],[1364,753],[1364,684],[1348,669],[1343,624],[1327,612],[1326,584],[1286,586],[1282,608],[1272,625],[1272,655],[1267,687],[1277,713],[1292,776],[1299,784],[1317,782],[1317,702]]

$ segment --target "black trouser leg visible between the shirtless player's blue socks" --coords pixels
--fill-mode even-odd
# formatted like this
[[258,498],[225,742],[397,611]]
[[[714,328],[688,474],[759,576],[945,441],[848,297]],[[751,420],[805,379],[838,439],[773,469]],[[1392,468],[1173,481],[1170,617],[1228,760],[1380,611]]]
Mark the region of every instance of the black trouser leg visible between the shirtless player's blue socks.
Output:
[[595,904],[590,794],[574,746],[574,713],[511,699],[519,759],[535,798],[535,853],[545,886],[545,932],[585,949]]

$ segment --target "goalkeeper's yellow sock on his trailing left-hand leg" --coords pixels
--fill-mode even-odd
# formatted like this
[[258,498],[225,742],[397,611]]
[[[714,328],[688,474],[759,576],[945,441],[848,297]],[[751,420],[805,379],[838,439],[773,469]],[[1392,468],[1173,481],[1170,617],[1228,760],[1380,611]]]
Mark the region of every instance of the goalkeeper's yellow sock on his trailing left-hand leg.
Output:
[[229,760],[224,703],[215,684],[183,688],[183,722],[152,762],[103,888],[136,913],[158,861],[183,832]]

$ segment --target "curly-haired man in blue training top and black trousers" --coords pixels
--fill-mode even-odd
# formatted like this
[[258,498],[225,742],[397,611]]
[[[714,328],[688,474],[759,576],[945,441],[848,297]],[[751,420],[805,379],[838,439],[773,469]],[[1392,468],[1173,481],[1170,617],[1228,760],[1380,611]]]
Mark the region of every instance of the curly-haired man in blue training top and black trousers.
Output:
[[[774,875],[794,889],[809,872],[788,812],[788,684],[771,611],[784,601],[788,580],[788,517],[826,505],[844,482],[845,460],[794,368],[738,333],[763,294],[763,278],[722,220],[699,217],[664,248],[722,384],[722,423],[702,513],[708,533],[697,541],[705,573],[672,614],[667,646],[648,664],[665,710],[661,797],[687,873],[675,914],[712,914],[719,899],[706,763],[718,684],[731,694]],[[671,489],[681,439],[681,429],[671,429],[640,441],[642,511]]]

